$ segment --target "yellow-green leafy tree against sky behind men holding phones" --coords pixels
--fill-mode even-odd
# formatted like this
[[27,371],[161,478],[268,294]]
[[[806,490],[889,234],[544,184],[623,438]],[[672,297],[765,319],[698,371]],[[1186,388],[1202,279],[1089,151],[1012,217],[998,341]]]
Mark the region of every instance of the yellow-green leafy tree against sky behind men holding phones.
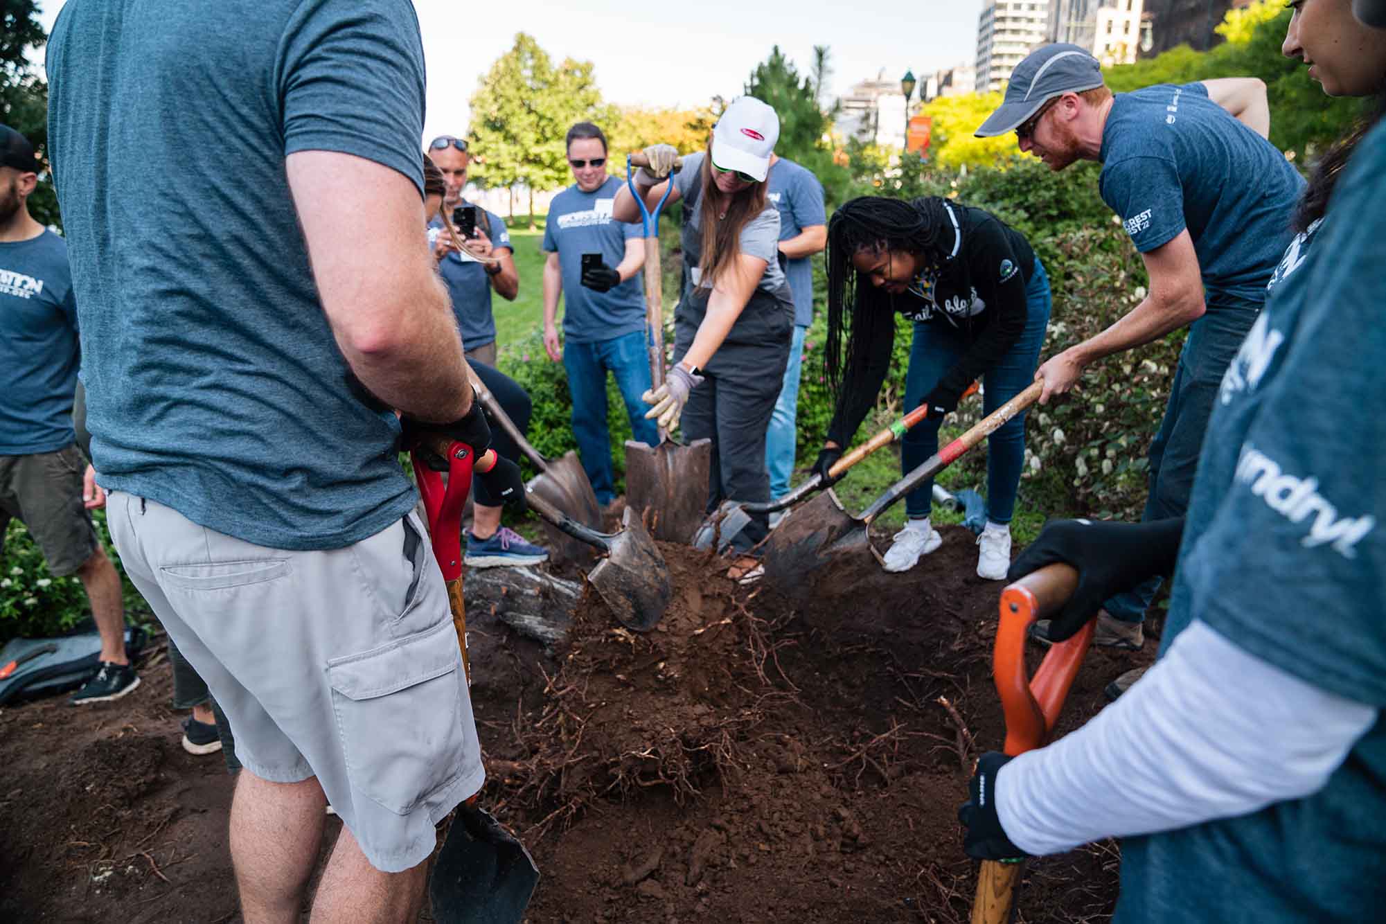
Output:
[[534,36],[520,32],[471,97],[471,179],[492,187],[525,184],[531,224],[534,191],[568,181],[564,137],[572,123],[613,121],[592,72],[590,61],[554,65]]

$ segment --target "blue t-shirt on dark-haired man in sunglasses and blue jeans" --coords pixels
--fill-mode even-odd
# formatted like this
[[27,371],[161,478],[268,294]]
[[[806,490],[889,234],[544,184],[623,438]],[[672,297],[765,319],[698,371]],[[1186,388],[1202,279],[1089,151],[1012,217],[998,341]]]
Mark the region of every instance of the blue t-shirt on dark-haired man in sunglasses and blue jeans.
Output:
[[553,197],[543,227],[543,249],[559,255],[563,270],[563,335],[574,344],[613,339],[644,330],[644,272],[608,292],[582,285],[582,255],[602,254],[615,269],[625,259],[625,242],[642,240],[642,224],[611,217],[617,191],[625,183],[608,176],[592,193],[574,183]]

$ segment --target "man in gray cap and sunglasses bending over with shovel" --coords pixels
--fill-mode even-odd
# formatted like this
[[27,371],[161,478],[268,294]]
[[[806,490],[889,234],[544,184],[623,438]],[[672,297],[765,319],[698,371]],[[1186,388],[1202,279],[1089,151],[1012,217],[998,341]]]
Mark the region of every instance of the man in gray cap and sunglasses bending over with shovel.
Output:
[[[1040,366],[1040,403],[1073,388],[1091,363],[1188,327],[1150,443],[1142,519],[1182,517],[1218,384],[1265,302],[1304,186],[1265,140],[1265,86],[1229,78],[1113,96],[1096,58],[1074,44],[1049,44],[1016,65],[1005,101],[977,136],[1010,130],[1021,151],[1052,170],[1102,163],[1102,198],[1150,276],[1149,294],[1131,312]],[[1095,644],[1139,648],[1157,587],[1152,580],[1107,600]],[[1045,641],[1045,626],[1035,636]],[[1127,672],[1109,690],[1120,693],[1137,676]]]

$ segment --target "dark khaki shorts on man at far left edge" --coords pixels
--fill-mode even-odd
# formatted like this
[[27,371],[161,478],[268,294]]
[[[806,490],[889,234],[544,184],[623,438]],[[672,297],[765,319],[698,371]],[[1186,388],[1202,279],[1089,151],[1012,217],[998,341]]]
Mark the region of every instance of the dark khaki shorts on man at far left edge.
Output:
[[82,503],[83,471],[76,443],[53,453],[0,456],[0,550],[14,518],[29,529],[54,576],[75,575],[100,547]]

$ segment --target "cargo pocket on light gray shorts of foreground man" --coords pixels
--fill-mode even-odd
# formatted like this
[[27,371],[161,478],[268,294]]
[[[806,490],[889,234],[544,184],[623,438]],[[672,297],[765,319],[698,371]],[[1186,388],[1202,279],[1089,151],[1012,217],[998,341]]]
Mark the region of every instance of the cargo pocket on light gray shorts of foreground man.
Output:
[[462,654],[450,621],[327,662],[353,790],[407,815],[463,770]]

